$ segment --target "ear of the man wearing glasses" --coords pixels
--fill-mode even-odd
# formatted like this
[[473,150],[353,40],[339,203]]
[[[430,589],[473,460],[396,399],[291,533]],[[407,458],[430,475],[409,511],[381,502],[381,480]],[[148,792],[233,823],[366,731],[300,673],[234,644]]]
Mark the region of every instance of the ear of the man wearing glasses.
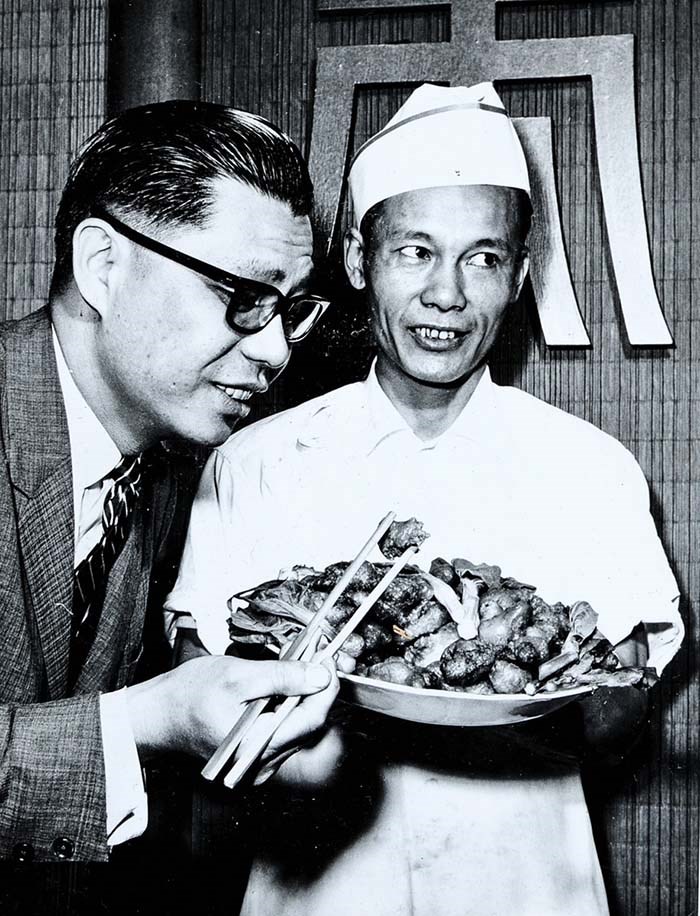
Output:
[[85,302],[102,316],[108,307],[114,268],[123,258],[121,238],[104,220],[88,217],[73,233],[73,278]]

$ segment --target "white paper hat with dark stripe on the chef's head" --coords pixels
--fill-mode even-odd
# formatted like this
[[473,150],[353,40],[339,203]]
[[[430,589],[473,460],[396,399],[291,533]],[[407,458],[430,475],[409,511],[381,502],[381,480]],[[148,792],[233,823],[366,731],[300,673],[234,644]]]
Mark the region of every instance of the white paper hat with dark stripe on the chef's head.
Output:
[[359,149],[348,181],[355,226],[404,191],[493,184],[530,193],[525,155],[492,83],[424,83]]

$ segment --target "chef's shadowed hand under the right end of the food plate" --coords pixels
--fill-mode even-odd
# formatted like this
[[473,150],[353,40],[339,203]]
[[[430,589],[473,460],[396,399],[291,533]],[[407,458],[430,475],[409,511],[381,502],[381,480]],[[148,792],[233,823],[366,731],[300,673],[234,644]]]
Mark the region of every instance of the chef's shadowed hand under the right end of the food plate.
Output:
[[[648,652],[639,627],[615,649],[623,665],[644,666]],[[599,687],[579,701],[589,759],[614,766],[641,737],[647,723],[647,691],[637,687]]]

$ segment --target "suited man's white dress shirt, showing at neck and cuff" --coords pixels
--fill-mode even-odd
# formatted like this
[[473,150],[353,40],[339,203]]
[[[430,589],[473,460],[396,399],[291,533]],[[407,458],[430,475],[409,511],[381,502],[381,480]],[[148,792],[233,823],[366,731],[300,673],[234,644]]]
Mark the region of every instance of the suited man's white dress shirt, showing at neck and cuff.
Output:
[[[53,332],[58,377],[68,421],[73,469],[75,558],[77,567],[102,536],[102,506],[113,481],[107,475],[122,458],[119,449],[78,390]],[[100,697],[105,761],[107,836],[115,846],[146,829],[148,803],[136,742],[129,721],[126,689]]]

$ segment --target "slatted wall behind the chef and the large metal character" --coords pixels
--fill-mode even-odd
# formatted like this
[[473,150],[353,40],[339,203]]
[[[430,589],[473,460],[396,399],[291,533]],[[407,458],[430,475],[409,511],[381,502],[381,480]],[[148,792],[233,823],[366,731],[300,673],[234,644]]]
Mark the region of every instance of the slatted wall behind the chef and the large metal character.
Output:
[[[260,111],[302,148],[310,135],[317,46],[444,41],[450,34],[444,7],[355,15],[318,12],[313,0],[207,0],[205,8],[215,34],[206,39],[204,97]],[[590,786],[613,912],[635,916],[681,916],[697,906],[700,191],[692,141],[700,138],[700,94],[692,86],[700,68],[692,35],[699,18],[700,7],[691,0],[591,0],[499,4],[497,20],[501,38],[632,33],[637,39],[645,207],[657,290],[675,349],[633,350],[625,342],[602,218],[589,84],[532,81],[499,89],[513,115],[554,120],[564,235],[593,347],[547,350],[525,297],[494,360],[499,380],[590,420],[632,449],[649,480],[683,593],[688,638],[655,693],[648,740],[633,765]],[[360,93],[355,146],[382,126],[407,91]],[[360,377],[369,356],[361,305],[344,291],[320,337],[297,355],[261,412]]]

